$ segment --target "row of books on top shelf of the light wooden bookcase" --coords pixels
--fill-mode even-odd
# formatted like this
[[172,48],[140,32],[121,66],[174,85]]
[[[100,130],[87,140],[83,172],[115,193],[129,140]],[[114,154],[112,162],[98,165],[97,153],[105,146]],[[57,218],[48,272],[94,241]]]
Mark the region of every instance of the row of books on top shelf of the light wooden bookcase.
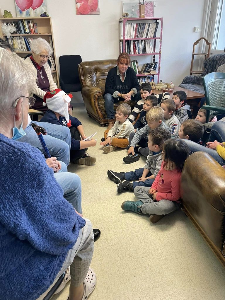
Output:
[[5,25],[12,25],[15,27],[14,35],[38,34],[37,23],[34,20],[19,20],[12,22],[4,22]]

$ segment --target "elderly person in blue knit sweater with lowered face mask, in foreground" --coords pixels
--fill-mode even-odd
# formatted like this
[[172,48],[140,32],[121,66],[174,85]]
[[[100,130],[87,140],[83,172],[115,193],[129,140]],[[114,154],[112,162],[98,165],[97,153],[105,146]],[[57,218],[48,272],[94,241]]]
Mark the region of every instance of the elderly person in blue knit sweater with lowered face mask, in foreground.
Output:
[[41,152],[16,141],[27,125],[32,77],[2,48],[0,78],[0,299],[41,299],[69,265],[68,299],[87,299],[96,284],[91,223],[63,198]]

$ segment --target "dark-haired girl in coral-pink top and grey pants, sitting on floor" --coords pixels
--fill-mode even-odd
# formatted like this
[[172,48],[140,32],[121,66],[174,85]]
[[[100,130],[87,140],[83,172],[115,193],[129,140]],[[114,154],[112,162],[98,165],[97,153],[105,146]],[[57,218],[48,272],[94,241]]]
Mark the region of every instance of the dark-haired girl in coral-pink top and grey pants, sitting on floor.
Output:
[[152,223],[180,207],[180,179],[189,148],[183,140],[169,139],[163,145],[162,165],[152,187],[135,187],[137,201],[125,201],[125,211],[150,214]]

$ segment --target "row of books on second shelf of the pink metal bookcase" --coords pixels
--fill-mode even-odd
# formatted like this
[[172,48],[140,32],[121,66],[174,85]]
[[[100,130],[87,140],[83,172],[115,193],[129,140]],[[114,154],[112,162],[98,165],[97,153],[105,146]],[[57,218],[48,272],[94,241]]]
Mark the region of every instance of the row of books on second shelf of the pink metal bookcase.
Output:
[[[123,52],[123,43],[120,42],[120,51]],[[122,53],[120,52],[120,53]],[[125,41],[125,52],[128,54],[148,54],[154,53],[150,40]]]

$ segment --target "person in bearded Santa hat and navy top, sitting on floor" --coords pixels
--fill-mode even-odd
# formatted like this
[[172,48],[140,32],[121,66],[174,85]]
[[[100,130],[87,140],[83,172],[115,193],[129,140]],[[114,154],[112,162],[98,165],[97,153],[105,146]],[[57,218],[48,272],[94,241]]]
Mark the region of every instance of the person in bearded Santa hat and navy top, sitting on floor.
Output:
[[44,95],[43,105],[47,105],[48,110],[40,122],[69,127],[71,134],[70,161],[74,164],[89,166],[96,162],[96,158],[86,155],[85,151],[87,151],[88,147],[95,146],[96,140],[84,141],[86,136],[81,122],[69,115],[68,111],[70,110],[69,106],[72,97],[71,94],[67,95],[59,88],[47,92]]

